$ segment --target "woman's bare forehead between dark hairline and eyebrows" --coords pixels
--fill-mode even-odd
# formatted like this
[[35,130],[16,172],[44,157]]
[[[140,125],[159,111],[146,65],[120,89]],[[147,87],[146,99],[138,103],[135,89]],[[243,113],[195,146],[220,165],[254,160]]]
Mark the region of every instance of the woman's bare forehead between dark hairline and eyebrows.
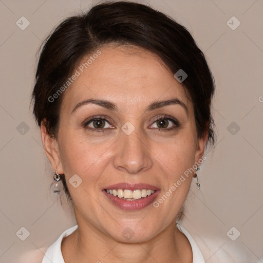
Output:
[[79,76],[66,90],[62,103],[68,109],[88,98],[116,104],[119,100],[130,107],[171,97],[190,104],[183,85],[157,55],[130,46],[107,46],[99,51],[100,55],[88,55],[77,67]]

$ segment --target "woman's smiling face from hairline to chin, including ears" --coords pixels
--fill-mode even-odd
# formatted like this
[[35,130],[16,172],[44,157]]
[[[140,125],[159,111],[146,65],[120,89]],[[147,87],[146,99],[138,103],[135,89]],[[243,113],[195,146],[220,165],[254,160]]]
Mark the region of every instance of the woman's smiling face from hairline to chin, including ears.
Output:
[[[49,147],[42,128],[43,143],[53,169],[65,174],[78,224],[123,242],[129,228],[130,241],[146,241],[175,221],[193,176],[182,175],[206,138],[197,137],[182,84],[154,54],[100,51],[65,91],[58,140]],[[77,185],[82,180],[76,188],[73,175]]]

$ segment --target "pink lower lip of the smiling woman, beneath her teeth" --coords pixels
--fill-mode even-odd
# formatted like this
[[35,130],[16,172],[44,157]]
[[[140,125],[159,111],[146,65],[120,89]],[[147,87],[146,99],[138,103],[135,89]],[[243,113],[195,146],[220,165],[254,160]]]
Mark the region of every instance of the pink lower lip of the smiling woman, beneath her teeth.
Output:
[[118,208],[123,210],[134,211],[134,210],[143,209],[147,205],[151,204],[156,198],[156,196],[159,194],[160,190],[156,190],[153,194],[148,195],[147,197],[142,197],[141,199],[135,201],[127,201],[120,199],[118,196],[113,196],[111,194],[108,194],[106,190],[103,190],[102,192],[113,204],[118,206]]

